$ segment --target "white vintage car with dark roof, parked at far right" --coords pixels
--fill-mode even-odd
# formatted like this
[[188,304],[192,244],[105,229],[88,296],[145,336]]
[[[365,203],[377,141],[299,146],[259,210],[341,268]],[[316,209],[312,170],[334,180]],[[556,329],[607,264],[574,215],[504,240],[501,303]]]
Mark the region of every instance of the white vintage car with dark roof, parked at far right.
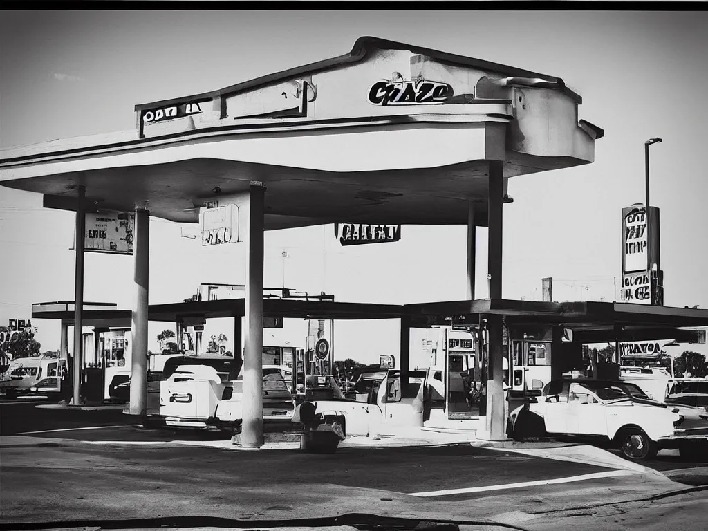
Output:
[[679,448],[682,455],[702,450],[708,416],[653,401],[623,380],[554,380],[510,413],[508,435],[610,442],[628,459],[651,459],[661,448]]

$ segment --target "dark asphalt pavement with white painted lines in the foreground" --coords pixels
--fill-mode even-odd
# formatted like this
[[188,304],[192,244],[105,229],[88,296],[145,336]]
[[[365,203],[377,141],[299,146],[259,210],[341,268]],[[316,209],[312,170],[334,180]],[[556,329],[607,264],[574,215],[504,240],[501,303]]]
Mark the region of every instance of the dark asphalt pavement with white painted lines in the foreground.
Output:
[[469,443],[239,450],[218,432],[144,430],[121,411],[36,405],[0,401],[0,522],[364,512],[498,520],[708,484],[705,464],[670,454],[643,463],[661,475]]

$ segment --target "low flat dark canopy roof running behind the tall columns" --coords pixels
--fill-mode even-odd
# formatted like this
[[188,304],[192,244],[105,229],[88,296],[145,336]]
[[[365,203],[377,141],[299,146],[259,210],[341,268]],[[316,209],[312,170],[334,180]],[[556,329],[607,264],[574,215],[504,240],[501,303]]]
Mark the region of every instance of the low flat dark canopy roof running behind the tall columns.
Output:
[[[205,319],[243,317],[244,299],[152,304],[150,321],[177,322],[185,316]],[[499,314],[515,326],[559,326],[572,334],[572,341],[644,341],[675,339],[683,343],[705,343],[704,330],[687,327],[708,326],[708,310],[651,307],[619,302],[537,302],[510,299],[431,302],[424,304],[370,304],[332,301],[263,299],[263,315],[295,319],[410,319],[414,328],[435,325],[476,325],[480,316]],[[62,319],[73,323],[72,302],[33,304],[33,319]],[[86,326],[130,326],[130,310],[84,311]]]

